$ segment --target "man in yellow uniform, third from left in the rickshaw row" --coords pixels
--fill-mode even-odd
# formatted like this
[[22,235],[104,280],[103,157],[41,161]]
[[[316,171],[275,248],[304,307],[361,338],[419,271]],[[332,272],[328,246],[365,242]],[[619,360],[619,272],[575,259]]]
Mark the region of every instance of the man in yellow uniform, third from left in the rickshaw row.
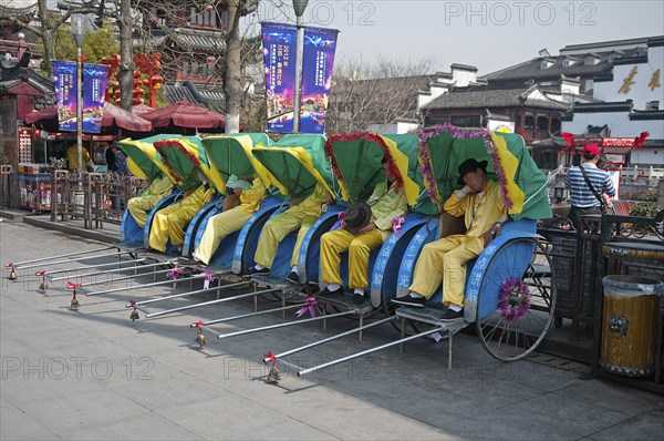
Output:
[[266,186],[260,177],[256,176],[249,189],[237,186],[234,188],[234,193],[240,198],[240,205],[219,213],[208,221],[200,244],[194,252],[194,259],[206,265],[210,263],[221,240],[229,234],[242,228],[253,213],[260,209],[266,197]]

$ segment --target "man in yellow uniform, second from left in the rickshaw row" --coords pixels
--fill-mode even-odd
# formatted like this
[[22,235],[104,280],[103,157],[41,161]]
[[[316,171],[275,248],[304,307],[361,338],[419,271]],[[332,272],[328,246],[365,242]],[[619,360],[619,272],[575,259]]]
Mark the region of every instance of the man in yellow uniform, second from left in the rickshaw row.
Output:
[[168,239],[180,247],[185,243],[187,224],[212,199],[214,194],[215,189],[204,183],[193,193],[186,194],[179,203],[157,212],[149,230],[149,247],[165,253]]

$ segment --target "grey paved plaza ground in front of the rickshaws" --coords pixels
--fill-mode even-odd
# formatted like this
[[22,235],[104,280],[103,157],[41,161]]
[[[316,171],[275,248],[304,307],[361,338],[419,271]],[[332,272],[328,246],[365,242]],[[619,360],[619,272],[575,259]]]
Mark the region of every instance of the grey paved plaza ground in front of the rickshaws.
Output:
[[[2,264],[94,249],[104,244],[21,223],[0,222]],[[111,257],[87,261],[98,264]],[[62,264],[61,268],[81,264]],[[53,268],[53,267],[49,267]],[[492,359],[470,334],[393,347],[299,378],[288,367],[267,383],[260,358],[357,326],[339,318],[218,340],[198,349],[189,325],[253,310],[253,300],[129,320],[125,304],[172,291],[160,286],[100,296],[65,281],[39,291],[34,271],[1,281],[1,438],[33,439],[366,439],[662,440],[664,397],[587,378],[588,367],[536,353]],[[77,271],[68,273],[74,280]],[[145,277],[142,283],[152,281]],[[124,284],[124,285],[121,285]],[[127,281],[97,287],[129,286]],[[135,283],[134,283],[135,285]],[[201,283],[195,285],[200,288]],[[189,284],[181,284],[183,291]],[[236,295],[240,290],[224,293]],[[158,302],[162,310],[216,298]],[[260,299],[259,308],[278,306]],[[289,319],[294,312],[288,312]],[[212,325],[220,331],[281,322],[281,314]],[[390,324],[288,358],[311,367],[398,338]]]

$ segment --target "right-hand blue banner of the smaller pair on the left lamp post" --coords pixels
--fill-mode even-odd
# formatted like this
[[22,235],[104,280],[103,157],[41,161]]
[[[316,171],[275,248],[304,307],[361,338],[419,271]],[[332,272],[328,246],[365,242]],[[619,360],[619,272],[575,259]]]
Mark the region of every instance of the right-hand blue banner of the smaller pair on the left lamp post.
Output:
[[83,132],[100,133],[104,116],[106,64],[83,64]]

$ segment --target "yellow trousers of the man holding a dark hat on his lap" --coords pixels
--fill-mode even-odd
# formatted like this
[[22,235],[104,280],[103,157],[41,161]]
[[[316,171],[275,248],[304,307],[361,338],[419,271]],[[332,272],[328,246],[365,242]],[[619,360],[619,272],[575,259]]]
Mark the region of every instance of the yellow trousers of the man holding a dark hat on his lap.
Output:
[[321,279],[326,284],[342,285],[341,253],[349,252],[349,288],[369,288],[369,255],[390,236],[390,232],[373,229],[354,235],[335,229],[321,237]]

